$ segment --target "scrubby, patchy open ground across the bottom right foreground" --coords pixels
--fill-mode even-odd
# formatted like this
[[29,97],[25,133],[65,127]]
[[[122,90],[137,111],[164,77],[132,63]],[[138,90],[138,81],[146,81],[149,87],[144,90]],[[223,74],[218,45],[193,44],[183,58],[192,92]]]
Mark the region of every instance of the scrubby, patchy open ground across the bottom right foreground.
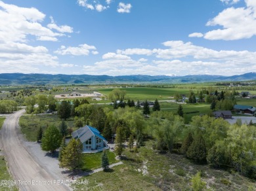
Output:
[[194,164],[181,155],[159,154],[146,141],[139,152],[126,149],[122,162],[111,171],[100,171],[82,179],[89,184],[75,185],[77,190],[191,190],[190,180],[202,171],[202,180],[209,190],[248,190],[256,183],[232,171],[212,169]]

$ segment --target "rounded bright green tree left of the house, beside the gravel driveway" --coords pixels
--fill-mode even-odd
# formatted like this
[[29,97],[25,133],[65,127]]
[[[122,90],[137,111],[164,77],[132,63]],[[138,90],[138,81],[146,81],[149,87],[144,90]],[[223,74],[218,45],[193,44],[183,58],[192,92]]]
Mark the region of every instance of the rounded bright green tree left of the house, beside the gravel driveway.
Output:
[[62,135],[56,126],[49,126],[43,133],[41,148],[52,153],[60,147]]

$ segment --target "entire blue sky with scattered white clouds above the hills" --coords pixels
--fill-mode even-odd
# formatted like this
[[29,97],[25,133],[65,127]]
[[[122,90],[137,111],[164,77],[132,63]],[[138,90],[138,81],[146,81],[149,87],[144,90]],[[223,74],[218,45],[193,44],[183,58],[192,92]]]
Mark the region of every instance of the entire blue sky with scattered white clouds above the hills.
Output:
[[255,0],[0,0],[0,73],[256,71]]

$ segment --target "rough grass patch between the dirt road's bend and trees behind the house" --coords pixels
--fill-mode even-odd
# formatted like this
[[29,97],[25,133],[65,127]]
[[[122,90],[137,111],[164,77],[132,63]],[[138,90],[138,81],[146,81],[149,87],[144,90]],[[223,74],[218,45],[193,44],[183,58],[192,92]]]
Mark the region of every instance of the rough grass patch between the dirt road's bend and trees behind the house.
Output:
[[[20,130],[28,141],[37,141],[37,130],[47,126],[59,126],[61,120],[56,114],[23,115],[20,117]],[[66,120],[68,127],[74,128],[74,120]]]

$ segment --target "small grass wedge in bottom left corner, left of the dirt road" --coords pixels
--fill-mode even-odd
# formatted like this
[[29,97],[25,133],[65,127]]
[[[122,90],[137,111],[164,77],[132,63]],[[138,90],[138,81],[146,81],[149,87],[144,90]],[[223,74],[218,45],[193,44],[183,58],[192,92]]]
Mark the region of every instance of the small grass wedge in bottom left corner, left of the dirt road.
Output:
[[0,156],[0,172],[0,190],[18,191],[16,184],[14,183],[11,175],[9,174],[4,156]]

